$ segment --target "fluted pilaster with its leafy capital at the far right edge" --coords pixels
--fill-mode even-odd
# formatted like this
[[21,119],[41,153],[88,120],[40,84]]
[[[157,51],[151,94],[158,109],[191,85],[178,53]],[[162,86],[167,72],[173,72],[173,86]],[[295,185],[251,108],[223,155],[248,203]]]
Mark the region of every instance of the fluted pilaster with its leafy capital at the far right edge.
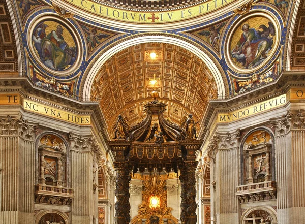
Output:
[[305,112],[272,119],[275,130],[278,223],[303,223],[305,214]]

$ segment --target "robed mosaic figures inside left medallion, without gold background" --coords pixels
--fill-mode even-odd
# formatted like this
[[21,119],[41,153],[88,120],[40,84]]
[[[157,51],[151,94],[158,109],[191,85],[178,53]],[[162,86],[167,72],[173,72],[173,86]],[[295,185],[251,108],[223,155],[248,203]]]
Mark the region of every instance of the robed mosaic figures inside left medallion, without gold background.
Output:
[[51,30],[48,35],[46,35],[47,27],[49,25],[42,22],[34,29],[32,35],[34,47],[45,66],[55,71],[63,71],[75,62],[76,47],[68,45],[63,36],[62,25],[57,24],[56,30]]

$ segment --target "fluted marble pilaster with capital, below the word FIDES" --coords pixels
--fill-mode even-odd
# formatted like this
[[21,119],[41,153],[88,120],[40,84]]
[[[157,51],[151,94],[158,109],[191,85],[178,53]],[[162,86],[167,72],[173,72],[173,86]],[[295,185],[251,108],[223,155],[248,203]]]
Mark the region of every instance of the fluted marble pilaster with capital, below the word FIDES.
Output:
[[[98,220],[97,157],[98,144],[93,136],[70,134],[72,188],[72,223],[96,223]],[[94,166],[93,166],[94,164]]]

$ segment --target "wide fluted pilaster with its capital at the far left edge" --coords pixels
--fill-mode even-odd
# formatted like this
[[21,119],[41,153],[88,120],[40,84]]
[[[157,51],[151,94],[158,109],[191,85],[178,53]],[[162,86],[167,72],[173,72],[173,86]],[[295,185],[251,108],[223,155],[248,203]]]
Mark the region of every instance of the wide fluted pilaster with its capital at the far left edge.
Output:
[[[0,223],[34,222],[35,133],[22,116],[0,118]],[[29,215],[31,214],[31,215]]]

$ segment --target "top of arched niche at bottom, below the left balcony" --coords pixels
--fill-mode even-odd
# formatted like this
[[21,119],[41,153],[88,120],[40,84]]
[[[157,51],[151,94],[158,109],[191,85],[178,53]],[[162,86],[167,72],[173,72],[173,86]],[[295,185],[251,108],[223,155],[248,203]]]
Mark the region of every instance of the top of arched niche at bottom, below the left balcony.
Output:
[[[70,220],[67,214],[58,210],[39,211],[35,218],[35,224],[69,224]],[[48,223],[49,222],[49,223]]]

